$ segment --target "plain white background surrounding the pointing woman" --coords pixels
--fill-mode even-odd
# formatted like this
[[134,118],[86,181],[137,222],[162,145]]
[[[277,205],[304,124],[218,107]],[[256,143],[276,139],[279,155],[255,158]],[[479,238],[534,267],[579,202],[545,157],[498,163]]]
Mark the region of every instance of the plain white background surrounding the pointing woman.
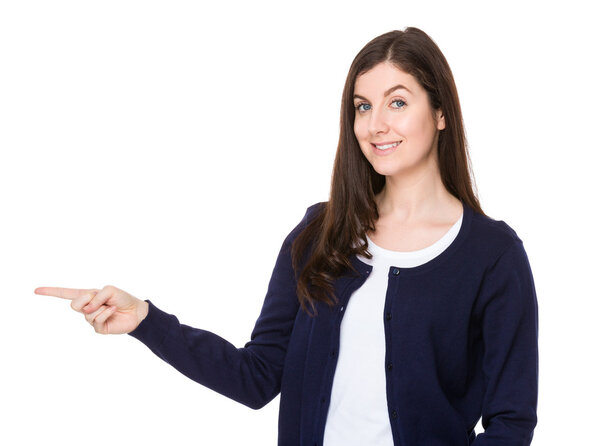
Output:
[[281,242],[327,200],[342,87],[417,26],[453,69],[479,197],[540,311],[533,444],[597,427],[598,54],[591,2],[0,3],[0,443],[276,443],[252,411],[39,286],[114,285],[237,346]]

